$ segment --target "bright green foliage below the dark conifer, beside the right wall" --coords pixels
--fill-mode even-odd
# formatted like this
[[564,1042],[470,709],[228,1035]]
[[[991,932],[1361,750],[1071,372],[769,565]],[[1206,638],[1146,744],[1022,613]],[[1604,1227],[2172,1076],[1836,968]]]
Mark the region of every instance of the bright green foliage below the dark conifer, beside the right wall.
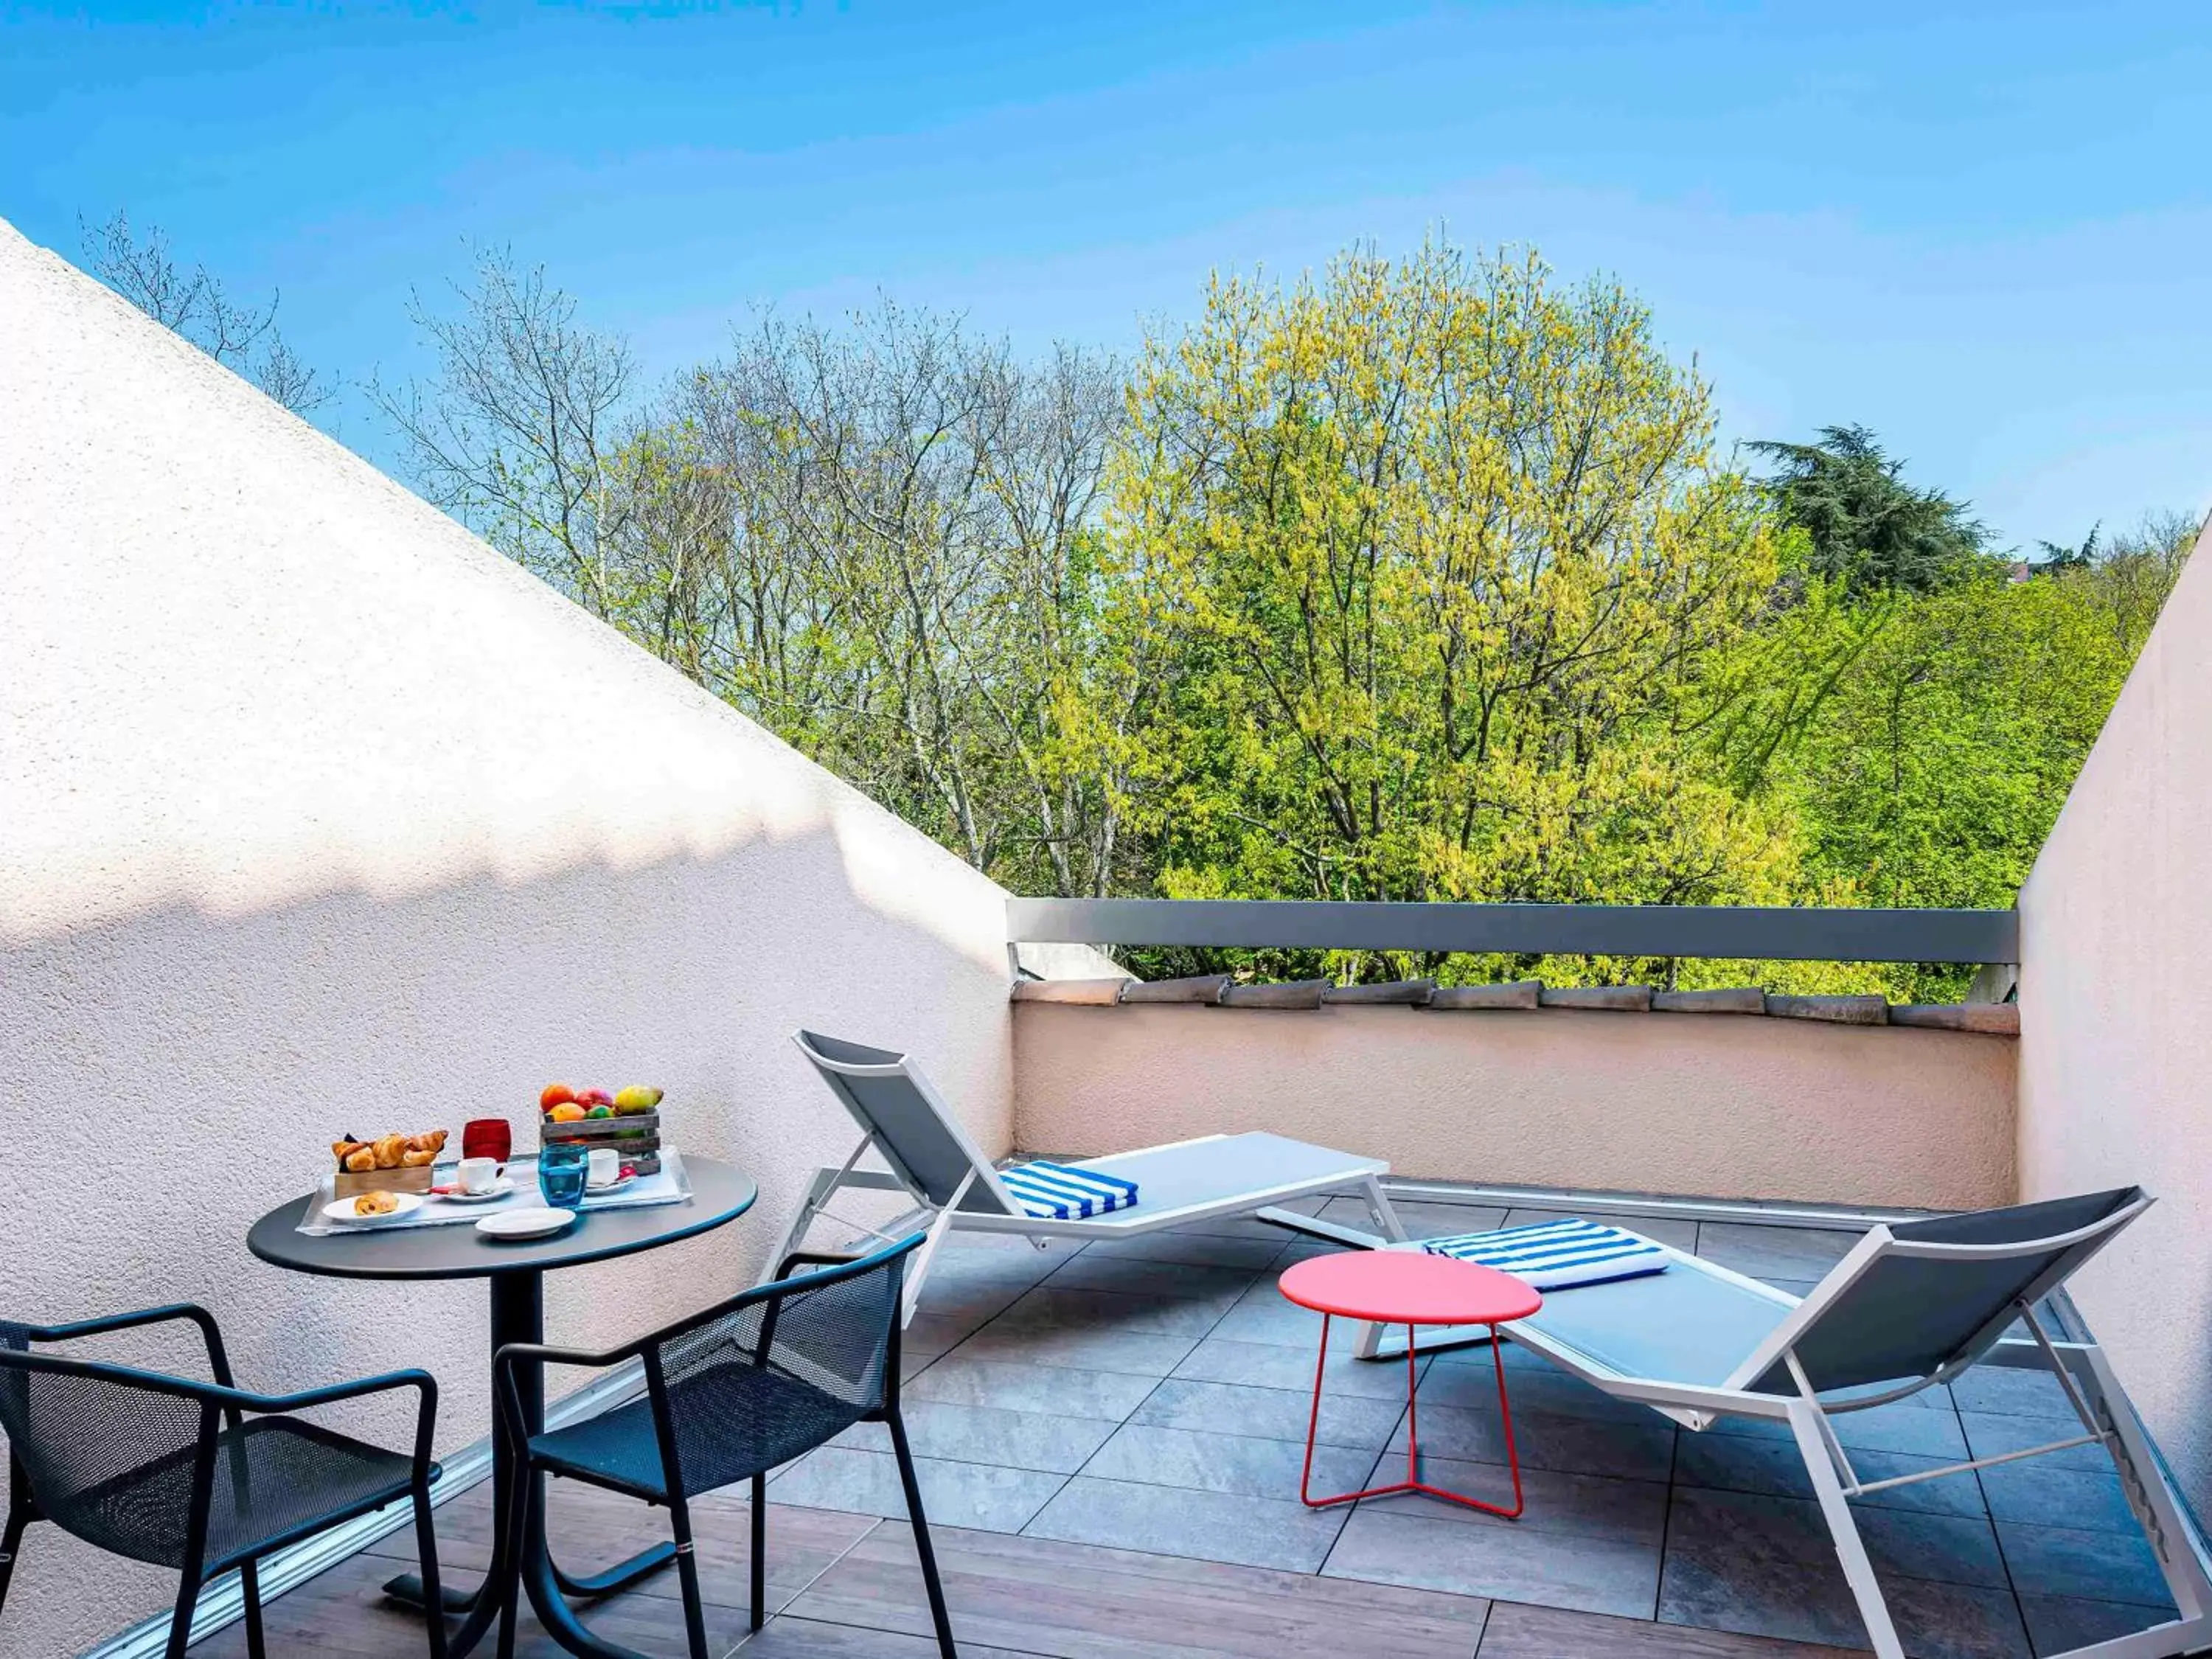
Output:
[[[1714,664],[1705,728],[1736,790],[1798,827],[1801,891],[2011,905],[2190,540],[2190,520],[2157,515],[2031,575],[1984,560],[1940,591],[1858,595],[1803,580]],[[1964,971],[1847,978],[1944,998]]]

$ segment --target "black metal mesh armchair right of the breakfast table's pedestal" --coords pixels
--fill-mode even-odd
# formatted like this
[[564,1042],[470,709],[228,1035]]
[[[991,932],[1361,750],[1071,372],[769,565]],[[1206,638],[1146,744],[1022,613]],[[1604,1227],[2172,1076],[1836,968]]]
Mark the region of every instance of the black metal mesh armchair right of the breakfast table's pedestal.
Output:
[[[493,1360],[500,1405],[509,1433],[526,1444],[524,1478],[515,1482],[507,1517],[515,1537],[511,1559],[522,1559],[529,1504],[540,1502],[540,1473],[666,1506],[690,1655],[706,1659],[688,1500],[752,1480],[752,1628],[759,1630],[768,1595],[768,1471],[856,1422],[883,1422],[891,1431],[914,1520],[938,1652],[956,1659],[907,1425],[898,1416],[900,1292],[907,1254],[920,1243],[922,1234],[911,1234],[874,1254],[794,1250],[776,1265],[772,1283],[604,1354],[542,1343],[502,1347]],[[796,1265],[814,1265],[814,1272],[787,1276]],[[518,1367],[606,1367],[628,1358],[644,1360],[646,1391],[639,1398],[566,1429],[522,1433]],[[500,1659],[513,1659],[520,1571],[509,1575],[502,1593]]]

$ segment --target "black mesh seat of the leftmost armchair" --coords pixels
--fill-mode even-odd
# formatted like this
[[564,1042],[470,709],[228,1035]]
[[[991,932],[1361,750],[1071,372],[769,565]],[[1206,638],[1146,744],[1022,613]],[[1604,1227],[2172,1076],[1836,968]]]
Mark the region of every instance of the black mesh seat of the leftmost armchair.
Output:
[[[195,1449],[175,1451],[86,1489],[71,1506],[69,1528],[135,1562],[184,1566],[195,1458]],[[215,1440],[206,1559],[250,1555],[285,1533],[405,1498],[411,1475],[403,1453],[314,1422],[248,1418],[243,1429],[223,1429]]]

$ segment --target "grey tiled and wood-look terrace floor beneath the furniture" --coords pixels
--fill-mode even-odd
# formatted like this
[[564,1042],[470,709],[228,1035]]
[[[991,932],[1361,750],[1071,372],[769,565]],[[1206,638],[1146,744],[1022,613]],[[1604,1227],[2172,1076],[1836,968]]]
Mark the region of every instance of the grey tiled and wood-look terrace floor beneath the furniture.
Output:
[[[1420,1234],[1551,1217],[1500,1194],[1422,1188]],[[1356,1208],[1352,1201],[1334,1201]],[[1601,1212],[1617,1214],[1610,1201]],[[1626,1201],[1635,1206],[1635,1201]],[[1630,1225],[1809,1290],[1854,1241],[1785,1208],[1650,1206]],[[1829,1217],[1834,1221],[1834,1217]],[[909,1352],[909,1431],[962,1652],[1055,1655],[1648,1655],[1772,1659],[1858,1652],[1863,1635],[1794,1451],[1759,1425],[1677,1429],[1509,1349],[1528,1513],[1515,1522],[1385,1498],[1296,1502],[1321,1321],[1276,1272],[1327,1245],[1256,1221],[1133,1245],[956,1234],[931,1272]],[[1367,1484],[1405,1447],[1396,1363],[1332,1360],[1316,1482]],[[1422,1360],[1433,1478],[1500,1491],[1486,1349]],[[1860,1473],[1887,1478],[2057,1438],[2053,1378],[1980,1367],[1949,1389],[1843,1420]],[[2062,1467],[2059,1467],[2062,1464]],[[1876,1493],[1858,1522],[1913,1655],[2031,1655],[2174,1617],[2119,1478],[2090,1451]],[[2099,1467],[2101,1464],[2101,1467]],[[931,1650],[898,1478],[858,1429],[770,1484],[776,1617],[745,1630],[748,1513],[701,1517],[714,1652]],[[555,1484],[555,1535],[582,1562],[657,1535],[628,1500]],[[440,1553],[482,1571],[489,1500],[440,1509]],[[405,1531],[292,1590],[272,1637],[299,1655],[414,1655],[420,1628],[383,1599],[414,1562]],[[608,1637],[681,1650],[675,1584],[595,1610]],[[526,1624],[538,1646],[560,1652]],[[243,1655],[237,1632],[192,1652]]]

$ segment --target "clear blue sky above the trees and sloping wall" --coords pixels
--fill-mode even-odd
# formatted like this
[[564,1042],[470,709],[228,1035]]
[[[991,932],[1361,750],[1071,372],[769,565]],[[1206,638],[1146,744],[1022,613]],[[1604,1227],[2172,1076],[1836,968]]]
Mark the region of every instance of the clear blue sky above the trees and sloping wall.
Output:
[[1444,226],[1617,274],[1732,438],[1867,422],[2006,542],[2212,504],[2192,0],[0,0],[0,217],[128,208],[345,376],[420,367],[471,237],[672,372],[876,290],[1126,349],[1212,268]]

